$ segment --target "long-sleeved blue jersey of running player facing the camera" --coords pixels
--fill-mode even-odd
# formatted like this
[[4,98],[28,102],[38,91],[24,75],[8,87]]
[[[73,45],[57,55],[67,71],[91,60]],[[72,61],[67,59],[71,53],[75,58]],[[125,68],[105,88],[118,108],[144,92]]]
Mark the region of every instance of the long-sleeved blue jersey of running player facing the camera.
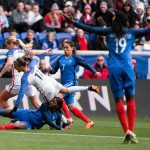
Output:
[[72,84],[75,85],[77,83],[76,80],[76,67],[82,66],[94,74],[96,70],[92,68],[85,60],[79,56],[71,55],[69,58],[65,58],[65,55],[60,56],[57,61],[52,65],[52,70],[50,71],[51,74],[56,73],[56,71],[60,68],[61,71],[61,83],[65,84]]

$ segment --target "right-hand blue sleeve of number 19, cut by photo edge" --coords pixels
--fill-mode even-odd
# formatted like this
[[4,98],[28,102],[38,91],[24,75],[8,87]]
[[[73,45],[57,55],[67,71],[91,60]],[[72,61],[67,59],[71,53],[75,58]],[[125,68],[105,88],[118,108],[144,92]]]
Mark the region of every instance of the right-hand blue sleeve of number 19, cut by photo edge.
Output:
[[136,37],[142,37],[150,34],[150,28],[132,29],[132,31]]

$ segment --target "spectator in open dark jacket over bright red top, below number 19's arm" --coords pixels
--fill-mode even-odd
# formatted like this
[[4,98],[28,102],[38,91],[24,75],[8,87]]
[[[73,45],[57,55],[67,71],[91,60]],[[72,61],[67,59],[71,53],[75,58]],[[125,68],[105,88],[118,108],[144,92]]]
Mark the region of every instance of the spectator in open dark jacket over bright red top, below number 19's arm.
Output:
[[92,50],[92,44],[89,39],[86,38],[82,29],[76,30],[75,38],[73,39],[77,50]]

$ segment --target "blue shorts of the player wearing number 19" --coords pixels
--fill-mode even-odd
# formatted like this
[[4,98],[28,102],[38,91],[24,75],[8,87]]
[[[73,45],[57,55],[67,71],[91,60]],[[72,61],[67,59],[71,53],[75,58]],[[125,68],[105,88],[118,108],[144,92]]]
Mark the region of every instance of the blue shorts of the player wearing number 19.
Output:
[[109,69],[109,81],[114,98],[135,95],[135,74],[132,68]]

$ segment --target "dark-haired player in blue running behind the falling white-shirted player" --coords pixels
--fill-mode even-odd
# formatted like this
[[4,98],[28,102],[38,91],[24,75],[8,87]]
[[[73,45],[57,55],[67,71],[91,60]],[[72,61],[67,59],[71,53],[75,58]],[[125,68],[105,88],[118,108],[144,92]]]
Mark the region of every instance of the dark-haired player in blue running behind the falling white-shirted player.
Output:
[[[100,75],[100,73],[96,72],[96,70],[92,68],[92,66],[90,66],[88,63],[86,63],[85,60],[83,60],[83,58],[76,55],[76,49],[72,41],[66,41],[63,44],[63,48],[64,48],[64,55],[60,56],[56,60],[56,62],[52,65],[52,69],[50,70],[50,73],[54,74],[60,68],[61,83],[63,86],[68,88],[71,86],[78,85],[75,71],[78,65],[90,70],[95,75]],[[85,116],[74,105],[74,93],[65,94],[63,96],[68,105],[69,110],[75,116],[82,119],[86,123],[85,128],[91,128],[94,125],[93,121],[91,121],[87,116]]]

